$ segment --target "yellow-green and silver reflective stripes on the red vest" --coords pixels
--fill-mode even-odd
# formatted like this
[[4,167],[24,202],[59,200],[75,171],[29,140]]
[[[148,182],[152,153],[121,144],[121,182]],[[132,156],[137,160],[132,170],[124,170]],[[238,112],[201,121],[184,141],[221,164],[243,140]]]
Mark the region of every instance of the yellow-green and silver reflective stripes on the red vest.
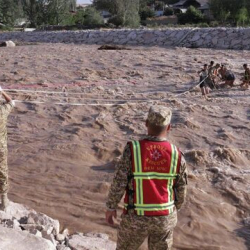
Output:
[[[145,211],[163,211],[169,210],[169,213],[173,212],[174,209],[174,198],[173,198],[173,184],[174,179],[177,177],[177,166],[179,159],[179,152],[176,146],[171,145],[171,163],[169,173],[158,173],[158,172],[142,172],[142,160],[141,160],[141,146],[139,141],[132,142],[133,148],[133,160],[134,160],[134,181],[135,181],[135,195],[136,203],[135,210],[138,215],[144,215]],[[143,180],[168,180],[167,191],[168,191],[168,203],[163,204],[144,204],[143,201]],[[125,209],[128,204],[125,204]]]

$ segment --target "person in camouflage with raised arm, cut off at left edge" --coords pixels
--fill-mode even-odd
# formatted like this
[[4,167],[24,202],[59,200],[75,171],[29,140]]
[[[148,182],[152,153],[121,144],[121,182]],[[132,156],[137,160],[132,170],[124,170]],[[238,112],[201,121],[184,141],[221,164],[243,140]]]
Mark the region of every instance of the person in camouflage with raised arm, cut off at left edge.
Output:
[[8,205],[7,118],[15,104],[1,87],[0,93],[5,99],[5,103],[0,104],[0,209],[4,210]]

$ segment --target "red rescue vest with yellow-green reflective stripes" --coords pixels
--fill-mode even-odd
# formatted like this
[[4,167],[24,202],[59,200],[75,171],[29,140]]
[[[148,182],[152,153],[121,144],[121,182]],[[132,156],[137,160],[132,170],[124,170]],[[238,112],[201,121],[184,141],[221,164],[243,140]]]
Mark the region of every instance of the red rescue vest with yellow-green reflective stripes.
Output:
[[133,206],[127,188],[124,212],[134,209],[144,216],[169,215],[174,211],[174,185],[180,172],[181,152],[169,142],[132,141]]

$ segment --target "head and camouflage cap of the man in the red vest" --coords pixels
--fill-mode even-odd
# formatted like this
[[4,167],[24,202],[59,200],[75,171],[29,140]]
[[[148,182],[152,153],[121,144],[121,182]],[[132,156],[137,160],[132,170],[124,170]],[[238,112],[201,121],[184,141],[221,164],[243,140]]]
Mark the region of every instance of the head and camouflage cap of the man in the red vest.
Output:
[[172,111],[165,106],[151,106],[148,111],[146,126],[148,135],[151,136],[166,136],[170,130],[170,121]]

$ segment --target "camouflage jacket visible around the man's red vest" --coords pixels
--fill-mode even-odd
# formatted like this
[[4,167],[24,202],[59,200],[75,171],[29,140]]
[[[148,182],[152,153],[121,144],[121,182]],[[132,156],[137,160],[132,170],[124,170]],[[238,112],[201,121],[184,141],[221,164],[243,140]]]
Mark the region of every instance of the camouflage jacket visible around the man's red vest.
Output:
[[[150,141],[166,141],[165,139],[159,139],[150,136],[147,136],[145,139],[148,139]],[[129,186],[130,190],[133,190],[133,179],[132,180],[130,179],[130,181],[128,181],[128,176],[131,175],[132,175],[132,154],[129,145],[126,145],[123,151],[123,155],[116,166],[116,172],[108,194],[108,201],[106,203],[108,209],[113,210],[117,208],[118,203],[122,199],[127,186]],[[186,161],[183,155],[181,157],[180,176],[175,185],[175,188],[176,188],[176,195],[178,197],[178,201],[175,202],[175,206],[177,210],[179,210],[185,201],[186,189],[187,189],[187,168],[186,168]]]

